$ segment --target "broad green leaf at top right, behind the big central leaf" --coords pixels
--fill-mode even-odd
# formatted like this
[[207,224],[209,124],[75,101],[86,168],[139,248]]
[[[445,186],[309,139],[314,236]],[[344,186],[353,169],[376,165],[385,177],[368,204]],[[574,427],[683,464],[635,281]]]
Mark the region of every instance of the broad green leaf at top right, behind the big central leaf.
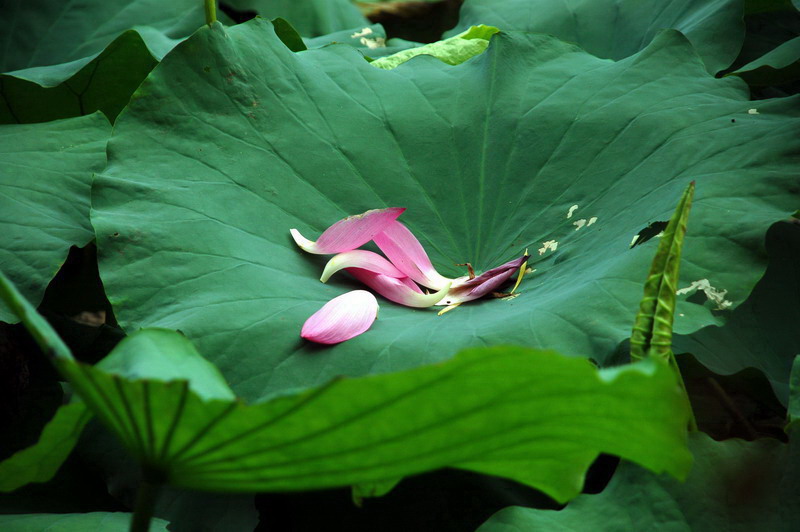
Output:
[[467,0],[452,35],[477,24],[549,33],[599,57],[622,59],[663,29],[681,31],[709,72],[729,66],[744,38],[743,0]]

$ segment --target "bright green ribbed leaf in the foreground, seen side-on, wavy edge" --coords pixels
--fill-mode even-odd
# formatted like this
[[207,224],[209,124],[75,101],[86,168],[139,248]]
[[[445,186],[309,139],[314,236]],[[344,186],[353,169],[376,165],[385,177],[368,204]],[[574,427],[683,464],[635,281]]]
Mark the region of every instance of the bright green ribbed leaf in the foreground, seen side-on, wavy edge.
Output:
[[[0,276],[0,295],[45,351],[54,331]],[[652,360],[597,370],[552,351],[494,347],[452,360],[245,405],[208,399],[207,367],[187,364],[187,381],[172,365],[194,354],[166,331],[126,340],[139,363],[109,369],[61,353],[56,364],[87,406],[151,475],[184,488],[228,491],[308,490],[381,485],[445,466],[504,476],[558,501],[580,493],[600,453],[617,454],[656,472],[683,478],[687,404],[671,371]],[[178,333],[172,333],[180,338]],[[122,344],[121,344],[122,345]],[[177,347],[177,348],[176,348]],[[166,363],[160,359],[168,357]],[[166,371],[165,371],[166,368]],[[198,370],[199,368],[199,370]],[[195,390],[202,391],[205,398]]]

